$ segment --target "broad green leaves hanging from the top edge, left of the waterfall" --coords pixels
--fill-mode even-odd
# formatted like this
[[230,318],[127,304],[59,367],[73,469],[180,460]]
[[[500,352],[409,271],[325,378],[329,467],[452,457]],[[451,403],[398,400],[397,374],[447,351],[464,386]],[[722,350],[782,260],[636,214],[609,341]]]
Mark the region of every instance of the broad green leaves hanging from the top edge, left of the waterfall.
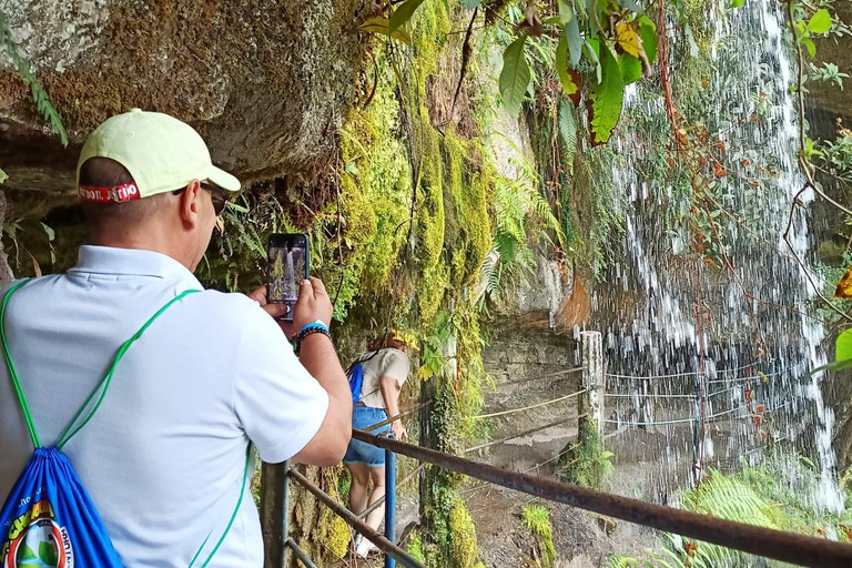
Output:
[[[409,43],[394,33],[405,33],[406,23],[423,3],[408,0],[389,19],[371,18],[361,29]],[[507,3],[511,4],[508,9]],[[510,114],[517,114],[534,79],[527,49],[540,49],[540,43],[528,38],[544,38],[550,50],[556,50],[550,68],[559,77],[565,94],[575,97],[575,104],[579,103],[580,72],[592,71],[592,103],[588,106],[592,144],[609,139],[621,115],[625,87],[639,80],[657,55],[656,26],[632,1],[558,0],[548,6],[552,13],[544,14],[538,13],[540,7],[534,2],[465,0],[460,4],[468,10],[484,9],[486,22],[507,10],[515,23],[516,38],[504,51],[499,80],[503,102]]]

